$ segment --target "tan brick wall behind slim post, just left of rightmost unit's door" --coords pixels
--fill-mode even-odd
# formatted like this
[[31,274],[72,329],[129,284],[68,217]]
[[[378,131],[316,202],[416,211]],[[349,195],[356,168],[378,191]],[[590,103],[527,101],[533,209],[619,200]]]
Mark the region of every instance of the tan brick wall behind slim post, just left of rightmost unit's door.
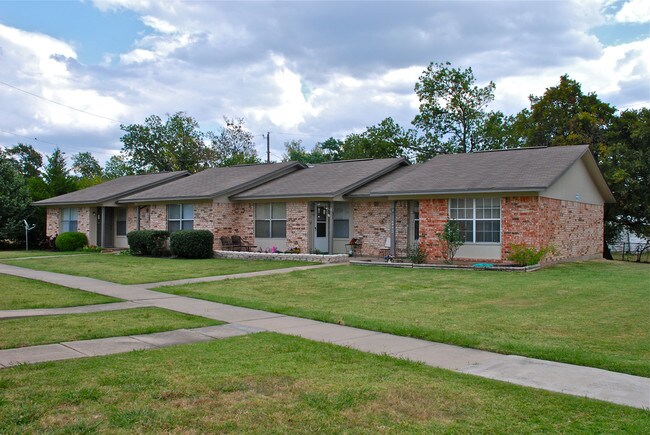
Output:
[[[363,239],[361,255],[379,256],[390,234],[392,201],[352,203],[352,237]],[[395,243],[398,257],[406,256],[408,245],[408,201],[397,201],[395,207]]]

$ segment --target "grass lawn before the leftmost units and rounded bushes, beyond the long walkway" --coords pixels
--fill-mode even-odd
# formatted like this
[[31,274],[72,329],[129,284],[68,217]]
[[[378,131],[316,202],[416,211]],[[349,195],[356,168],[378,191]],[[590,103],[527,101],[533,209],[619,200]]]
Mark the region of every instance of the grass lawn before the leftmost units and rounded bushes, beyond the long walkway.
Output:
[[198,278],[258,270],[306,266],[314,263],[273,260],[205,259],[134,257],[131,255],[88,255],[81,257],[38,258],[32,260],[2,260],[30,269],[87,276],[119,284],[143,284]]

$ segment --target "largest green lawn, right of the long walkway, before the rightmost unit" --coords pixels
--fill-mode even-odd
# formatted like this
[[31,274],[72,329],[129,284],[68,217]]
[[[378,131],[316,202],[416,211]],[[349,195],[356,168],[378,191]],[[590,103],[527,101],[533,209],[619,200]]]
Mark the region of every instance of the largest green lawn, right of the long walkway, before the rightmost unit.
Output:
[[157,290],[506,354],[650,376],[650,267],[533,273],[341,266]]

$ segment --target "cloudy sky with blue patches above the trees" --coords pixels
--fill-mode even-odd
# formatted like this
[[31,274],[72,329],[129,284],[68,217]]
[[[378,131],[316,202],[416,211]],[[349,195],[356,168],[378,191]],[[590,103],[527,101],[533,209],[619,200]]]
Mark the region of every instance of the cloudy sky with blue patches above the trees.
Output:
[[529,107],[563,74],[619,110],[650,107],[650,1],[1,1],[0,146],[117,154],[120,124],[243,118],[272,160],[418,112],[431,62]]

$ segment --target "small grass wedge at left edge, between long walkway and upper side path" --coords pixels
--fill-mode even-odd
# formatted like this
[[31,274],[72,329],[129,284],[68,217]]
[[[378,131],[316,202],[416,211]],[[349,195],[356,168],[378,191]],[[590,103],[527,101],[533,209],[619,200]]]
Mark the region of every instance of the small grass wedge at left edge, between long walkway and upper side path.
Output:
[[0,274],[0,310],[75,307],[119,301],[83,290]]

